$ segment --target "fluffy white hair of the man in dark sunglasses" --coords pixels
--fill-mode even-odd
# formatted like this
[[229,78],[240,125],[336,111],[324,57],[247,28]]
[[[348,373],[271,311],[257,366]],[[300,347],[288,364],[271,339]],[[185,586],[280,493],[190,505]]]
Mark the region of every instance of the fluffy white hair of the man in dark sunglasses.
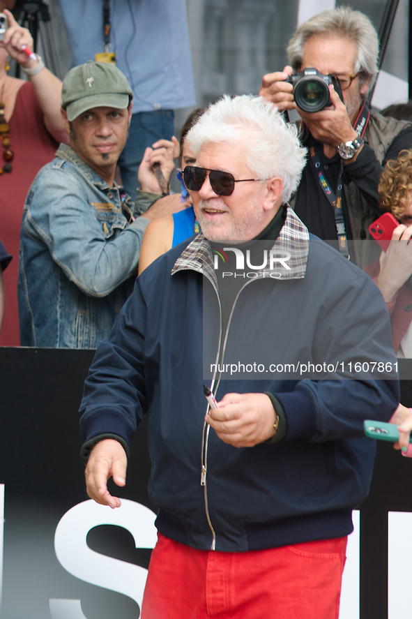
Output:
[[307,149],[294,124],[261,97],[224,95],[207,108],[192,127],[186,142],[196,156],[205,142],[239,143],[247,167],[258,179],[282,179],[282,199],[296,191],[306,163]]

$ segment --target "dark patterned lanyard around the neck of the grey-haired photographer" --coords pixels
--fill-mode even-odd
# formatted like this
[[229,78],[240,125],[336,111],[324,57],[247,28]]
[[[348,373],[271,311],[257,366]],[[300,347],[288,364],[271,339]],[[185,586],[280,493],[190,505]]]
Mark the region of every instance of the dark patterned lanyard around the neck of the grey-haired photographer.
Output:
[[[367,108],[366,103],[364,102],[362,107],[360,108],[360,112],[356,121],[353,124],[353,128],[356,130],[356,133],[363,137],[365,135],[365,131],[367,128],[367,124],[369,122],[370,112]],[[333,207],[333,213],[335,214],[335,224],[336,224],[336,232],[337,232],[337,240],[339,241],[339,251],[345,258],[350,258],[349,248],[348,248],[348,239],[346,236],[345,222],[343,216],[342,209],[342,175],[343,175],[343,162],[340,162],[339,175],[337,177],[337,188],[336,193],[330,188],[328,181],[326,180],[325,169],[321,164],[319,159],[319,155],[316,153],[316,149],[314,144],[310,145],[309,148],[310,153],[310,161],[312,161],[312,165],[314,167],[314,171],[316,174],[316,178],[318,179],[319,185],[322,188],[323,193],[328,198],[330,205]]]

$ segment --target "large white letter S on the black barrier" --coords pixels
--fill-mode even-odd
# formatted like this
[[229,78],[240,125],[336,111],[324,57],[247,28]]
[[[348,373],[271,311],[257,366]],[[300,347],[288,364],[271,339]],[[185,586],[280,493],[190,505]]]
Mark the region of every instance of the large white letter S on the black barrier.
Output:
[[[54,535],[56,557],[78,579],[127,595],[142,608],[147,569],[91,550],[86,537],[93,527],[117,525],[129,530],[136,548],[154,548],[155,514],[140,503],[122,499],[121,507],[109,509],[87,500],[69,509]],[[86,619],[79,599],[50,599],[52,619]]]

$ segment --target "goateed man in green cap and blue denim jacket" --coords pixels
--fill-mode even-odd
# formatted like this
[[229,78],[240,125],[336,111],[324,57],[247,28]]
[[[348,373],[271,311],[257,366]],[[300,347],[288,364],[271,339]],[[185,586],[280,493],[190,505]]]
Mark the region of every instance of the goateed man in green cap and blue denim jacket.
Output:
[[[20,338],[23,346],[96,348],[132,292],[146,225],[166,213],[158,204],[137,211],[114,181],[132,114],[123,73],[86,62],[69,71],[61,94],[70,146],[60,144],[40,170],[24,207]],[[151,153],[165,176],[169,144],[160,140]],[[153,170],[146,174],[157,187]]]

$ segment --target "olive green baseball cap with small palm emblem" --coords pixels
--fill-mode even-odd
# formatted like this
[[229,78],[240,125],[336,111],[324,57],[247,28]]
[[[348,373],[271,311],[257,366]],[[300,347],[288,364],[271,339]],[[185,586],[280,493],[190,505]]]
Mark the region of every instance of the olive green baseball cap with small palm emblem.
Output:
[[125,75],[107,62],[88,60],[73,67],[63,80],[61,107],[73,121],[92,107],[119,107],[124,110],[133,91]]

